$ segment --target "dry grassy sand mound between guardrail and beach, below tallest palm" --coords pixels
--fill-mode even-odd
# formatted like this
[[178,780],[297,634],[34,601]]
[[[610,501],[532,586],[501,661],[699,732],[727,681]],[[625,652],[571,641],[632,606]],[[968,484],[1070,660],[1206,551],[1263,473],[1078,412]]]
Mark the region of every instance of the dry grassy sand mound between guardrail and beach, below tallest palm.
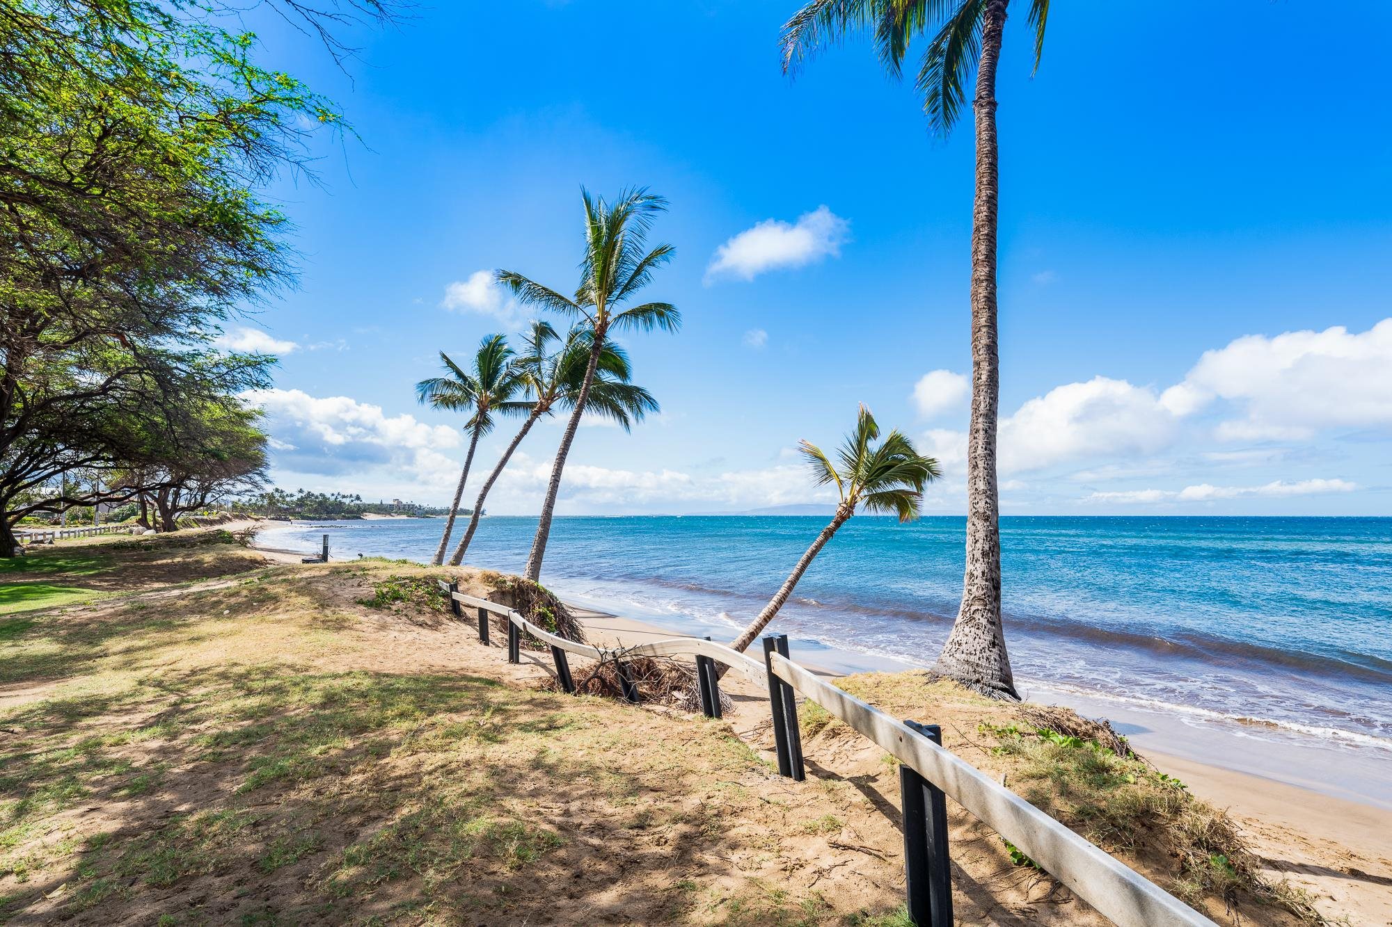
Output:
[[[1258,857],[1225,811],[1155,770],[1105,721],[983,699],[926,672],[863,674],[837,683],[896,717],[940,724],[954,753],[1221,923],[1320,920],[1299,891],[1258,876]],[[799,721],[809,756],[859,738],[818,706],[805,704]],[[894,761],[884,759],[889,779]],[[963,818],[955,830],[980,841],[984,825],[952,810]],[[1018,848],[995,841],[1011,864],[1047,876]]]

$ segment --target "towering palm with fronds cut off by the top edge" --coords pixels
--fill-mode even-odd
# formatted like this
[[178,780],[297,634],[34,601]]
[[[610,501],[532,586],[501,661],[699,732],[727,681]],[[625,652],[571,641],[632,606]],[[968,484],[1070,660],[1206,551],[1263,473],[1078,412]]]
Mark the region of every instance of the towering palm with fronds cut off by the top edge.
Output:
[[[1018,0],[1023,3],[1025,0]],[[1048,0],[1029,0],[1034,68],[1044,50]],[[972,423],[967,433],[966,571],[962,605],[933,671],[992,697],[1018,699],[1001,624],[1001,525],[995,479],[999,356],[995,328],[998,153],[995,65],[1011,0],[813,0],[784,25],[784,71],[855,31],[899,77],[912,39],[928,39],[919,64],[923,110],[940,135],[956,122],[976,70],[976,203],[972,213]]]

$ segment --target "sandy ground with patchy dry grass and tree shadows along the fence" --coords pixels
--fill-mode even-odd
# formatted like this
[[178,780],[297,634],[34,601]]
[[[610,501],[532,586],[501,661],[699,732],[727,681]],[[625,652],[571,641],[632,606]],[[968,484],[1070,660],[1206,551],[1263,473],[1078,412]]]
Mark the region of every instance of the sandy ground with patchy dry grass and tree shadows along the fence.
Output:
[[[217,548],[255,557],[171,557]],[[908,923],[892,759],[805,710],[792,782],[759,693],[710,721],[551,692],[548,654],[509,665],[444,611],[447,572],[484,592],[401,562],[258,565],[0,617],[0,923]],[[983,768],[1038,759],[958,689],[845,685],[942,722]],[[951,820],[960,923],[1102,923]],[[1115,842],[1180,874],[1160,843]],[[1221,923],[1299,920],[1196,891]]]

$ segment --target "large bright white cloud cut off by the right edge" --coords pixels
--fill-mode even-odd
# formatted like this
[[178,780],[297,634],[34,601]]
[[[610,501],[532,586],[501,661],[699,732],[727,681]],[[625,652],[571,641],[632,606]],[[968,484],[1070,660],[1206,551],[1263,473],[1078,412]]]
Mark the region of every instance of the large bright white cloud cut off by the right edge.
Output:
[[[1179,387],[1187,404],[1214,398],[1242,406],[1222,440],[1307,438],[1331,427],[1392,425],[1392,319],[1350,334],[1324,331],[1246,335],[1205,352]],[[1168,391],[1166,391],[1168,393]]]

